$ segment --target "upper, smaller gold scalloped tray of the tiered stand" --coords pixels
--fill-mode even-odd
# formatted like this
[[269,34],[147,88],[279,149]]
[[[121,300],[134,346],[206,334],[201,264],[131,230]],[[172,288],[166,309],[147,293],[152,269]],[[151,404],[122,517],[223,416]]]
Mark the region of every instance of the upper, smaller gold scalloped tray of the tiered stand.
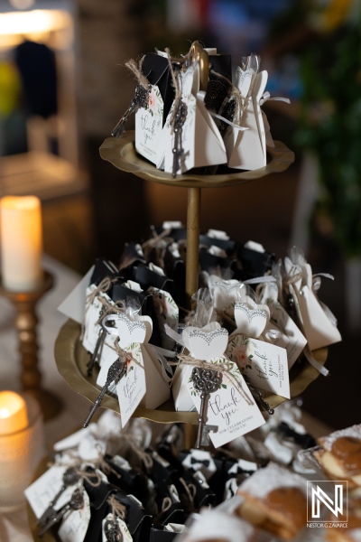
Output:
[[[243,182],[254,181],[270,173],[281,173],[285,171],[294,161],[294,153],[290,151],[281,141],[274,141],[274,147],[267,147],[270,156],[268,164],[264,167],[253,170],[236,170],[226,168],[226,173],[204,175],[192,173],[192,171],[176,175],[164,173],[153,164],[143,159],[136,153],[134,148],[134,130],[125,132],[119,138],[108,137],[100,146],[99,153],[103,160],[116,166],[117,169],[128,173],[134,173],[147,181],[160,182],[170,186],[181,186],[183,188],[217,188],[222,186],[234,186]],[[224,167],[219,167],[219,172],[224,172]]]

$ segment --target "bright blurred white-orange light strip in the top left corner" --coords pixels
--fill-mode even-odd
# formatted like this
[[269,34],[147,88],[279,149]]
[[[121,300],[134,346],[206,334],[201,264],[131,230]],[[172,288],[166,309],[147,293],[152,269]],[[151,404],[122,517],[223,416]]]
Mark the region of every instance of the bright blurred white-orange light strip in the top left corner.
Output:
[[71,24],[68,13],[60,10],[34,9],[29,12],[0,14],[0,36],[28,35],[64,30]]

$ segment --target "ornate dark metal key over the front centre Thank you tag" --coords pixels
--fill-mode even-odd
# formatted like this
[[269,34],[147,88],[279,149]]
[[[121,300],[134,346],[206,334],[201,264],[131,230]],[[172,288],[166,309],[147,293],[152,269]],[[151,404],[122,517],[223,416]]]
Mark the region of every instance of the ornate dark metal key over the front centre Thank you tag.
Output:
[[196,448],[200,448],[200,445],[205,445],[203,444],[205,439],[206,444],[208,444],[207,436],[203,435],[204,429],[207,426],[208,397],[210,393],[213,393],[219,388],[222,382],[222,373],[214,369],[201,369],[200,367],[195,367],[192,370],[190,378],[193,381],[194,389],[200,392],[199,426],[196,440]]

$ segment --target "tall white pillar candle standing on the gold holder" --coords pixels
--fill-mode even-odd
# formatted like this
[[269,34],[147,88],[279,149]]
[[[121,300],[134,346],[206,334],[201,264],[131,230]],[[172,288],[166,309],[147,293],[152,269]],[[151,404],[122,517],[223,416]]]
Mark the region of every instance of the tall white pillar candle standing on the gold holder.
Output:
[[31,292],[42,284],[42,209],[35,196],[0,201],[1,274],[6,290]]

